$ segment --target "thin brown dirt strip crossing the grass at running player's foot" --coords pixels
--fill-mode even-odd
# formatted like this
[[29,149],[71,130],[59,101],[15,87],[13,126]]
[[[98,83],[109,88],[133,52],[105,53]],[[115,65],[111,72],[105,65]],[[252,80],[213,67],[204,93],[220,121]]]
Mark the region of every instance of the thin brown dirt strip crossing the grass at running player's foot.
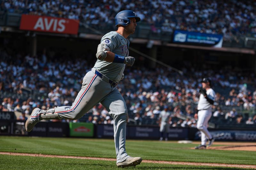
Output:
[[[116,159],[112,159],[112,158],[78,157],[78,156],[63,156],[63,155],[44,155],[44,154],[32,154],[32,153],[0,152],[0,154],[2,154],[2,155],[15,155],[15,156],[44,157],[44,158],[68,158],[68,159],[90,159],[90,160],[116,161]],[[170,164],[170,165],[218,166],[218,167],[236,167],[236,168],[253,168],[253,169],[256,169],[256,165],[173,162],[173,161],[154,161],[154,160],[143,160],[142,162],[143,163],[154,163],[154,164]]]

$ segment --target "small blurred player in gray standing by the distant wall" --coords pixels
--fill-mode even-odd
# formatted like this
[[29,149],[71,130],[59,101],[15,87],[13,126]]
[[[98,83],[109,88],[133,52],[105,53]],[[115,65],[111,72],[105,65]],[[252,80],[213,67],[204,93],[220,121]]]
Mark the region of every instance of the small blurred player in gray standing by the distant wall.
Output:
[[159,126],[160,126],[160,141],[163,140],[164,132],[165,132],[165,141],[168,140],[168,134],[170,129],[170,115],[171,113],[168,112],[168,106],[164,106],[164,110],[160,112],[159,114]]

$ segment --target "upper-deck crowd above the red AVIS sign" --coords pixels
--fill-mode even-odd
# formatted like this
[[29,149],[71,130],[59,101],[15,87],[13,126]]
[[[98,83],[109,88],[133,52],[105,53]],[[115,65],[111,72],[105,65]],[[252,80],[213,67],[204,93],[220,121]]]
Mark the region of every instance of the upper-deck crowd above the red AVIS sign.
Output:
[[231,35],[256,33],[255,1],[223,0],[3,0],[0,11],[70,19],[94,28],[113,27],[118,11],[132,9],[153,32],[174,29]]

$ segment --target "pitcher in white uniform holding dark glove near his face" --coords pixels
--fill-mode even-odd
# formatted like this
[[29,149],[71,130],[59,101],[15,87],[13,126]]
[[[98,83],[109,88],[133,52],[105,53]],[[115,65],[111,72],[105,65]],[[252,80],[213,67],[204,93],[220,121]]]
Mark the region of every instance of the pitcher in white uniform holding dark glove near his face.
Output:
[[212,116],[212,105],[215,99],[215,92],[211,88],[211,80],[204,78],[202,81],[202,87],[199,92],[200,97],[197,105],[198,112],[195,114],[197,120],[197,129],[201,132],[201,144],[196,146],[195,149],[206,149],[206,137],[209,140],[207,147],[211,146],[214,142],[214,138],[207,130],[208,121]]

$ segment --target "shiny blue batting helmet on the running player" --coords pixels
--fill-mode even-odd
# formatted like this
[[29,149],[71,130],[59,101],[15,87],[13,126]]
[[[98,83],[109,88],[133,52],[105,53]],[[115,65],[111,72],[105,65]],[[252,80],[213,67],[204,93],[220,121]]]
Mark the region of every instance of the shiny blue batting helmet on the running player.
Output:
[[130,19],[129,18],[135,18],[136,22],[140,21],[140,17],[137,17],[135,15],[135,12],[131,10],[124,10],[120,11],[116,14],[115,20],[116,20],[116,27],[117,25],[122,25],[122,26],[127,26],[130,24]]

